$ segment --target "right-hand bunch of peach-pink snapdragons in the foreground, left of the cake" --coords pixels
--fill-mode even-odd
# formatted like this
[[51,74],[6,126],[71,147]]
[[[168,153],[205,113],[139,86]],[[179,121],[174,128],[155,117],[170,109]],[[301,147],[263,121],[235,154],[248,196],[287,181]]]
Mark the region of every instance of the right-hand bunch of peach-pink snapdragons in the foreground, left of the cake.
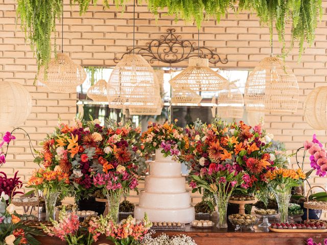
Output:
[[[104,234],[115,245],[139,244],[151,228],[152,223],[145,214],[143,220],[136,220],[132,216],[115,223],[110,216],[90,220],[90,228],[97,232],[98,236]],[[96,239],[97,241],[97,239]]]

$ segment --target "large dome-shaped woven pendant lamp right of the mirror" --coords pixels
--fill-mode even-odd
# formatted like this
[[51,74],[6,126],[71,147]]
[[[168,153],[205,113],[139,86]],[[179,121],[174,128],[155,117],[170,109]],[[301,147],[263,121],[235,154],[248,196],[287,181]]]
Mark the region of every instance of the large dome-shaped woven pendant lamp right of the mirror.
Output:
[[293,71],[281,59],[269,57],[250,73],[244,101],[247,111],[296,112],[298,96]]

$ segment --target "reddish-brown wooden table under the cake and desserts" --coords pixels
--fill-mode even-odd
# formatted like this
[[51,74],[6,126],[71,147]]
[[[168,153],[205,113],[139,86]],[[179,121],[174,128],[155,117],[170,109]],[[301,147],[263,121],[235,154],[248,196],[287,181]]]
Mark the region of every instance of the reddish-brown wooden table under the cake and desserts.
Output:
[[[193,228],[186,225],[185,232],[172,232],[166,231],[169,236],[186,234],[192,237],[198,245],[305,245],[305,241],[312,237],[316,242],[323,244],[323,238],[327,238],[327,233],[276,233],[276,232],[263,232],[255,227],[255,232],[251,231],[238,231],[227,229],[200,229]],[[156,234],[160,234],[157,232]],[[37,240],[42,245],[56,244],[65,245],[66,243],[55,237],[38,236]],[[100,237],[99,241],[95,244],[110,244],[106,238]]]

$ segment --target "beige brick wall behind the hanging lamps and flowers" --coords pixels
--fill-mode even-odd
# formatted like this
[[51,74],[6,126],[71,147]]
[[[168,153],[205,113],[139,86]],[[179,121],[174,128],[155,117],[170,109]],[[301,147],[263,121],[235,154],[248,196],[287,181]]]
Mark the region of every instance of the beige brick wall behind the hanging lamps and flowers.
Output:
[[[0,0],[0,78],[24,84],[31,92],[34,107],[22,127],[30,133],[33,144],[36,145],[46,133],[53,130],[59,116],[65,122],[72,121],[76,112],[76,94],[55,94],[42,86],[33,86],[36,62],[29,46],[25,44],[24,33],[20,32],[19,26],[15,27],[15,2]],[[116,9],[112,6],[104,11],[101,5],[90,6],[86,14],[79,16],[76,6],[71,8],[68,0],[64,2],[64,51],[81,65],[114,66],[113,58],[121,58],[127,47],[132,45],[132,6],[126,6],[124,13],[121,13],[122,7]],[[323,1],[323,7],[324,14],[318,24],[312,47],[307,48],[299,63],[296,47],[287,58],[300,87],[297,112],[266,116],[265,128],[275,135],[275,139],[284,141],[290,150],[299,148],[302,141],[310,139],[313,133],[322,142],[327,142],[326,131],[311,129],[303,121],[302,110],[306,95],[312,89],[324,86],[327,79],[326,0]],[[164,12],[156,20],[144,5],[137,6],[136,12],[136,45],[144,45],[149,40],[159,38],[167,28],[175,28],[183,39],[197,40],[197,29],[193,24],[182,20],[176,22],[173,16],[167,16]],[[288,28],[286,33],[289,32]],[[260,27],[255,14],[228,14],[219,24],[215,20],[205,21],[200,33],[201,46],[214,48],[219,54],[227,55],[229,62],[225,65],[219,64],[221,68],[252,69],[270,54],[269,30],[267,27]],[[286,38],[290,39],[290,35]],[[280,54],[281,44],[276,41],[276,35],[273,39],[274,53]],[[160,63],[154,65],[166,66]],[[186,62],[176,64],[185,65]],[[0,127],[1,132],[7,130],[11,129]],[[9,174],[19,170],[22,179],[26,180],[34,168],[32,156],[24,134],[16,133],[16,137],[14,146],[9,149],[8,162],[2,170]],[[294,159],[292,160],[294,165]],[[326,179],[315,178],[313,181],[327,184]],[[133,201],[137,202],[137,199]]]

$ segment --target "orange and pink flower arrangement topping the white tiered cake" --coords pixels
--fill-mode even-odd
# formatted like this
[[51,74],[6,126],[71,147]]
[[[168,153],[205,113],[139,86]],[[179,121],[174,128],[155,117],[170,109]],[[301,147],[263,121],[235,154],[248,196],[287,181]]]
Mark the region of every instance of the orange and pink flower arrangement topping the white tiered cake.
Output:
[[179,158],[181,152],[189,148],[189,137],[184,134],[183,128],[168,122],[163,125],[149,122],[148,130],[143,132],[141,141],[147,154],[162,149],[161,153],[165,157]]

